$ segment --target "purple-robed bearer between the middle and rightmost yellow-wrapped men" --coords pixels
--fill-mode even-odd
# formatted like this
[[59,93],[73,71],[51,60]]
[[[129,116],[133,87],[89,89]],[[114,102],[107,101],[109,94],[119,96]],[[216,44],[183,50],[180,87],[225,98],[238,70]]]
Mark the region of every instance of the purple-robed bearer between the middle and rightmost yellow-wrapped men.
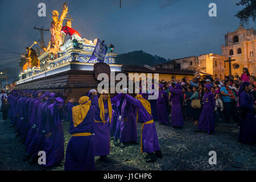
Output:
[[[137,141],[137,108],[127,100],[123,100],[121,110],[120,142]],[[126,118],[126,119],[125,119]]]

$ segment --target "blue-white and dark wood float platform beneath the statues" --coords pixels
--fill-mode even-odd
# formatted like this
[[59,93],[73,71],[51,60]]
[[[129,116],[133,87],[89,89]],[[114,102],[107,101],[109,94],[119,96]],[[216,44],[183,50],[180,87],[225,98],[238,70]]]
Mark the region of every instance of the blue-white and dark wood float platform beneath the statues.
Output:
[[106,53],[104,62],[90,59],[97,45],[77,42],[67,52],[46,51],[38,57],[40,68],[28,68],[19,75],[15,90],[65,90],[69,96],[79,98],[88,90],[97,88],[99,73],[121,72],[115,64],[117,53]]

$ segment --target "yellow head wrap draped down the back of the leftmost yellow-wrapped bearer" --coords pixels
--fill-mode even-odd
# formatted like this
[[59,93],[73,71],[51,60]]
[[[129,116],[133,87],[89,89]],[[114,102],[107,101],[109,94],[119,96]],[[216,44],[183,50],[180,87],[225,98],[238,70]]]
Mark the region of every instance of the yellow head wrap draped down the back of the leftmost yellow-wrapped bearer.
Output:
[[84,118],[86,117],[86,114],[90,109],[90,104],[90,98],[84,96],[79,99],[79,105],[72,108],[72,117],[75,127],[78,126],[82,121],[84,121]]

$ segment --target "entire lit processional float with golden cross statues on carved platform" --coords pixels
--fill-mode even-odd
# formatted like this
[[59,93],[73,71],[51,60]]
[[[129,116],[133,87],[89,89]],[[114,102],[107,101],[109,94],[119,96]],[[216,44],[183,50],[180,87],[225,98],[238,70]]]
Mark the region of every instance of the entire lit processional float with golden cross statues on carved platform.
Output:
[[[121,72],[122,65],[115,64],[117,53],[113,53],[114,46],[111,44],[107,53],[108,47],[104,41],[94,39],[92,42],[82,38],[82,35],[72,28],[71,16],[67,16],[69,15],[66,3],[60,16],[58,11],[52,11],[51,40],[47,47],[42,47],[43,53],[38,57],[31,57],[31,54],[35,54],[32,46],[38,42],[35,41],[27,48],[28,54],[23,56],[26,57],[27,63],[19,75],[15,89],[68,90],[69,94],[73,93],[79,97],[85,92],[84,89],[97,87],[99,73],[109,74],[110,70]],[[67,20],[63,26],[64,19]]]

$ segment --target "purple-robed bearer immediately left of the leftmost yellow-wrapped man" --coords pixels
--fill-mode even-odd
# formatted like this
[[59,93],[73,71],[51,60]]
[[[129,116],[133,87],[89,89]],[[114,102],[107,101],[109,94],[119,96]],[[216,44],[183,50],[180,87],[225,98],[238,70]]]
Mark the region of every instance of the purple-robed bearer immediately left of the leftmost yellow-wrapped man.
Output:
[[48,106],[46,112],[46,134],[51,135],[44,141],[44,151],[46,152],[46,164],[44,167],[59,165],[64,159],[64,133],[63,121],[65,119],[64,110],[58,107],[58,103],[63,103],[63,99],[56,98],[56,101]]

